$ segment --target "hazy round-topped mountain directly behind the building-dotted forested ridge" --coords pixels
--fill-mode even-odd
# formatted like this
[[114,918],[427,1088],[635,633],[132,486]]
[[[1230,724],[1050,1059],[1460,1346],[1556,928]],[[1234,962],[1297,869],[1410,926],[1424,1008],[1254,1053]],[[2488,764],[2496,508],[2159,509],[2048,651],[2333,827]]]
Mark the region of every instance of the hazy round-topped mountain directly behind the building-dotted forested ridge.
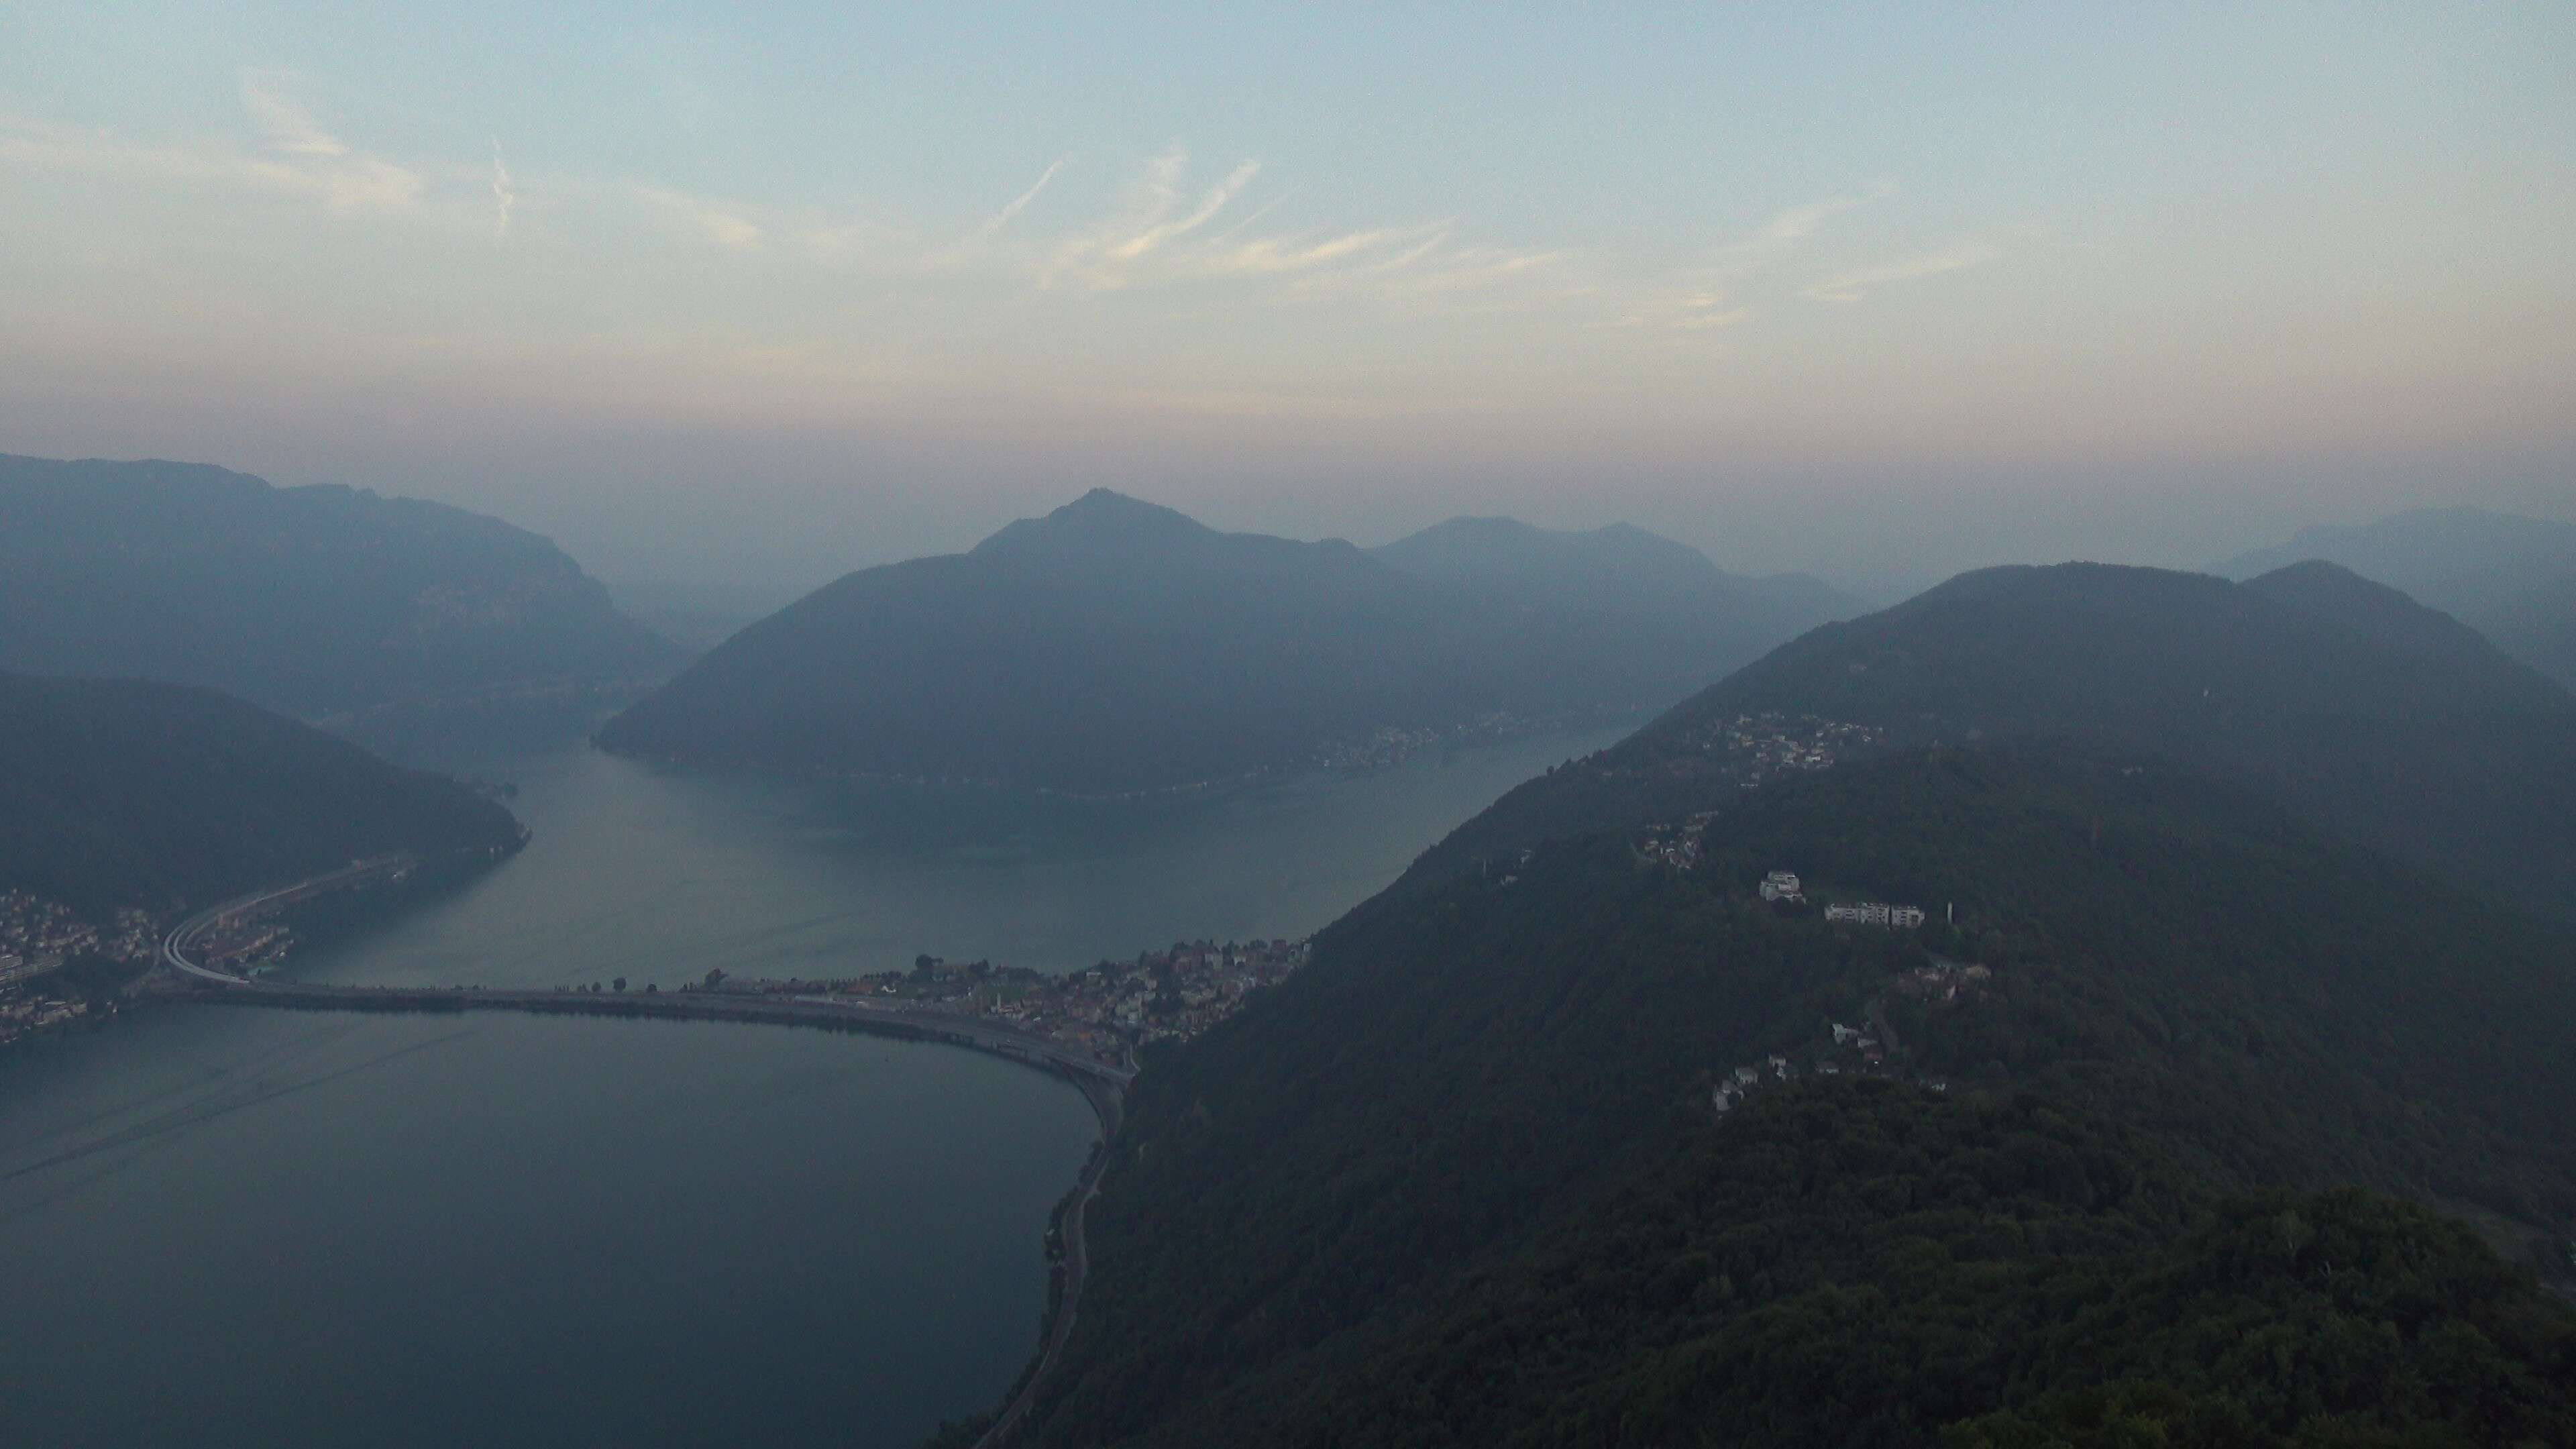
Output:
[[2107,565],[1960,575],[1814,629],[1515,789],[1417,874],[1708,807],[1759,773],[1762,750],[1821,737],[1821,722],[1857,740],[1844,753],[2017,737],[2146,750],[2473,890],[2545,910],[2576,900],[2576,699],[2455,619],[2324,562],[2249,583]]

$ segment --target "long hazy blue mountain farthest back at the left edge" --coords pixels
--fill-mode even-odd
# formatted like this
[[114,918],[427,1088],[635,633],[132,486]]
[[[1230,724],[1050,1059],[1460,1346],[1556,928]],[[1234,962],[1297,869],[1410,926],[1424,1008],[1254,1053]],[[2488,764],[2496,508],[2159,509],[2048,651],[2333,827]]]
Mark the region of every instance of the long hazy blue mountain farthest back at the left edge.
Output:
[[497,518],[206,464],[0,456],[0,668],[330,717],[670,660],[580,565]]

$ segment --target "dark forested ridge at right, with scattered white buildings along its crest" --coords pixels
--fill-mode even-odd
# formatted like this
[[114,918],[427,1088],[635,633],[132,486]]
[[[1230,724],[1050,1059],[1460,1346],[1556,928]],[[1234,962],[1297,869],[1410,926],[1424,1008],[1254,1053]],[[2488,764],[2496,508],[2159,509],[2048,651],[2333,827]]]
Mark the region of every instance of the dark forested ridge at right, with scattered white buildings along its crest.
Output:
[[1399,884],[1151,1057],[1033,1441],[2545,1444],[2571,1011],[2561,933],[2182,766],[1788,773],[1690,871]]

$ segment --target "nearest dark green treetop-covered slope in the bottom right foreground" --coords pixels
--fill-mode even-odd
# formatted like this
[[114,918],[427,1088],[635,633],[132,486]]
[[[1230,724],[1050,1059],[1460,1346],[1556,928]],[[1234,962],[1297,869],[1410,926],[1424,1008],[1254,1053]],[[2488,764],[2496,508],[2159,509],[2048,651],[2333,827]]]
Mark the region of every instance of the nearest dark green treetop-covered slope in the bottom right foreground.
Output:
[[2035,1096],[1801,1083],[1234,1444],[2553,1444],[2576,1315],[2339,1189],[2213,1196]]

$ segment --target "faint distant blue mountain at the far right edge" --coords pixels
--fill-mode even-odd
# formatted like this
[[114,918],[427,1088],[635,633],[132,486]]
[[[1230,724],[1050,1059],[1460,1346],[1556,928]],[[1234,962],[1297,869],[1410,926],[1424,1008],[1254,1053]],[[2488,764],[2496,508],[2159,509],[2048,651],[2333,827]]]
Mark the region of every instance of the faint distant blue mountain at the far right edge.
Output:
[[2576,688],[2576,523],[2421,508],[2357,529],[2300,529],[2210,572],[2254,578],[2306,559],[2401,588]]

